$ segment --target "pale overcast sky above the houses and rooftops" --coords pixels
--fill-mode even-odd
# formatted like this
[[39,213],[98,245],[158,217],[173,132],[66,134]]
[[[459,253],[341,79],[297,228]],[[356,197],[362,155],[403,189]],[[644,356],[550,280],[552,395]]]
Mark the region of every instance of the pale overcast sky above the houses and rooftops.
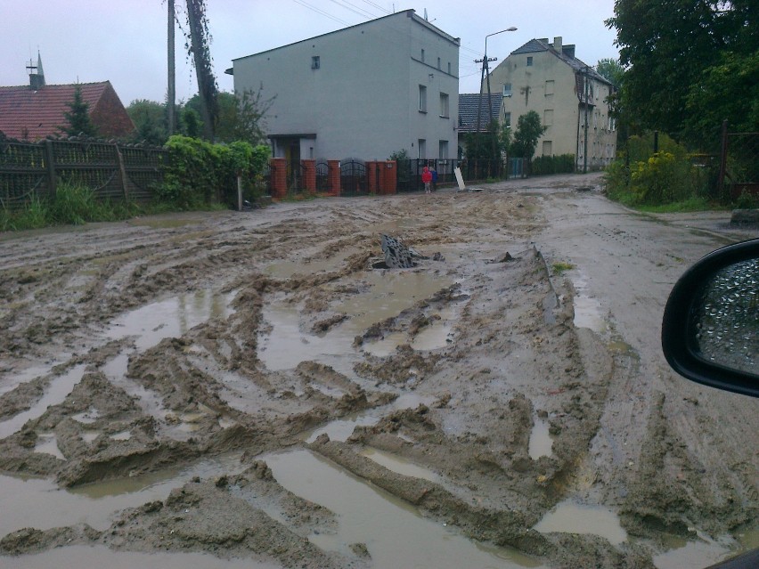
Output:
[[[186,29],[184,0],[177,16]],[[604,26],[614,0],[207,0],[211,56],[219,89],[233,90],[224,75],[232,60],[280,45],[347,28],[388,13],[414,9],[453,37],[461,38],[460,93],[477,93],[485,37],[490,57],[502,61],[533,38],[561,36],[575,55],[595,65],[617,58],[616,33]],[[194,71],[176,30],[176,97],[197,93]],[[42,55],[48,84],[110,80],[121,102],[163,101],[167,91],[167,0],[0,0],[0,85],[28,85],[31,58]],[[491,63],[491,69],[498,62]]]

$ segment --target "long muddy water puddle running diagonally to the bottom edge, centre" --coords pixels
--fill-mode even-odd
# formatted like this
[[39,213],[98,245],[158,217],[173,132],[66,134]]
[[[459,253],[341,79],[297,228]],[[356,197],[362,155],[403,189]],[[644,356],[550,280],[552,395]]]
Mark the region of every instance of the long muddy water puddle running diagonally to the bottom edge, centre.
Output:
[[310,451],[269,455],[264,459],[277,481],[290,492],[338,514],[336,534],[308,537],[321,549],[342,551],[349,544],[363,543],[372,566],[377,569],[541,566],[516,550],[476,545],[447,526],[421,517],[403,500],[364,483]]

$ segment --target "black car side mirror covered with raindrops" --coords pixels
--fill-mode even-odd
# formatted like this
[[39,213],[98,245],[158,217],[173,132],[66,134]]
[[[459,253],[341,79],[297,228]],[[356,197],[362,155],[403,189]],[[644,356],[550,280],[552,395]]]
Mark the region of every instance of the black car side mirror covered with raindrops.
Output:
[[759,397],[759,239],[717,249],[681,276],[662,349],[685,378]]

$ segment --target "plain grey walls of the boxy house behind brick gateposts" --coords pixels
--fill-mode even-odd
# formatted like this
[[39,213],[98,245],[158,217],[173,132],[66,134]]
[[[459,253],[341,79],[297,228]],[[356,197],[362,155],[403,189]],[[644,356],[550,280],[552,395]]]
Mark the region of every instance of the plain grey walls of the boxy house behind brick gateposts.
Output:
[[[425,61],[421,50],[425,50]],[[312,58],[319,57],[319,69]],[[441,67],[437,69],[437,58]],[[411,144],[454,140],[458,120],[459,42],[411,11],[233,61],[234,88],[275,96],[266,117],[274,135],[316,134],[301,142],[301,158],[387,159]],[[447,73],[450,61],[452,74]],[[432,77],[430,77],[430,74]],[[428,113],[418,110],[428,86]],[[439,93],[449,94],[450,118],[439,118]],[[431,144],[431,145],[430,145]]]

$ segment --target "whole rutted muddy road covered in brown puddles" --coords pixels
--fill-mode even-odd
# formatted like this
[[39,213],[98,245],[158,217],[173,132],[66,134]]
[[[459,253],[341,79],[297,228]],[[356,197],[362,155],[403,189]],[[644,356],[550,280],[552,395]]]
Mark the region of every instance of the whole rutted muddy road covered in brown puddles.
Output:
[[[755,400],[659,348],[751,232],[599,175],[0,235],[0,566],[706,566]],[[411,246],[381,268],[380,236]],[[151,565],[152,564],[152,565]]]

